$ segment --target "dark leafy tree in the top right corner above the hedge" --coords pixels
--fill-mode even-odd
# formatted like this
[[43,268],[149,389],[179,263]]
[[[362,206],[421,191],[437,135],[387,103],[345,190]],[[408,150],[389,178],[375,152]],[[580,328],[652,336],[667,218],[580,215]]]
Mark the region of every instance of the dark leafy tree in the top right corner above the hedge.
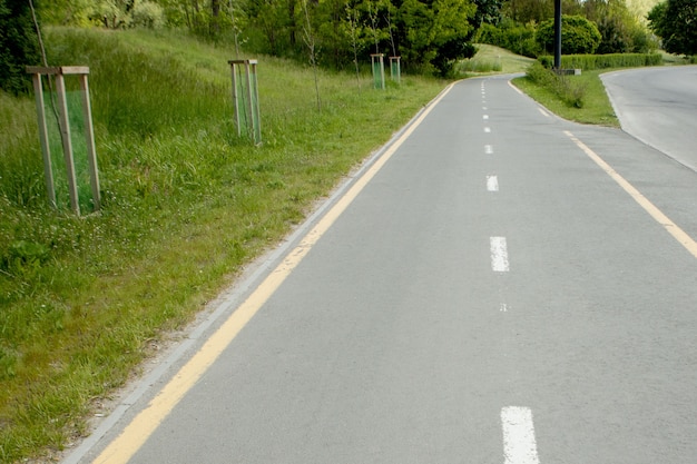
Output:
[[662,39],[664,49],[676,55],[697,55],[697,1],[668,0],[648,14],[649,28]]

